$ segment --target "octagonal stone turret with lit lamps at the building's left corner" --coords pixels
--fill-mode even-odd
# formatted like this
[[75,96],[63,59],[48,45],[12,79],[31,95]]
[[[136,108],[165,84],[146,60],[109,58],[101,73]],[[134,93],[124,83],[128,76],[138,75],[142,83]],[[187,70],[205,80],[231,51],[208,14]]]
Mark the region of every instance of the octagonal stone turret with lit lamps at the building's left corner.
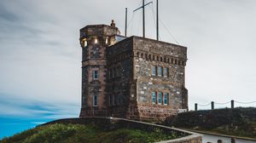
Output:
[[106,102],[107,48],[113,35],[110,26],[90,25],[80,29],[82,54],[82,107],[80,117],[108,116]]

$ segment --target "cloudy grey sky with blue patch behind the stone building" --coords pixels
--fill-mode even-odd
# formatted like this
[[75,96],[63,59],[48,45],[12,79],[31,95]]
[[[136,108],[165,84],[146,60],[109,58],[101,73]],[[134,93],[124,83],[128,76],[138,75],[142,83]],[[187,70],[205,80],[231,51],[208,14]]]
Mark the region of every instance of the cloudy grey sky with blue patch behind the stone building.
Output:
[[[145,8],[155,39],[155,0]],[[151,2],[146,0],[146,3]],[[188,48],[189,110],[211,101],[256,106],[256,1],[160,0],[160,40]],[[142,36],[142,0],[1,0],[0,139],[63,117],[79,117],[79,29],[115,20]],[[253,102],[250,104],[238,102]],[[230,106],[217,104],[216,107]]]

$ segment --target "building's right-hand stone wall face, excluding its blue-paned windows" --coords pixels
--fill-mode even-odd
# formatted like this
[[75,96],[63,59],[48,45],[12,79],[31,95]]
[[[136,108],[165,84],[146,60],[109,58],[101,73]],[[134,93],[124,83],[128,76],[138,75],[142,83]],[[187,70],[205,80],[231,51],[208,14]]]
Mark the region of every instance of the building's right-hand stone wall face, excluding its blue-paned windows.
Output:
[[[184,88],[186,48],[143,37],[133,37],[134,79],[137,79],[138,111],[142,120],[164,120],[177,109],[188,109]],[[152,75],[152,66],[167,69],[164,75]],[[152,103],[152,92],[168,94],[168,103]],[[163,100],[163,99],[162,99]]]

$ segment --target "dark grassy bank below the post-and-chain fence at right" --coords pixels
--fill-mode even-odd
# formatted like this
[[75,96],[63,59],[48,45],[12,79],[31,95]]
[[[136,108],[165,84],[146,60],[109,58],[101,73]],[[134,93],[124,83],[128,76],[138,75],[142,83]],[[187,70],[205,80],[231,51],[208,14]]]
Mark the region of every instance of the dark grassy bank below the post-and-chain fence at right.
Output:
[[255,138],[256,108],[217,109],[179,114],[170,118],[167,126],[207,131],[217,134]]

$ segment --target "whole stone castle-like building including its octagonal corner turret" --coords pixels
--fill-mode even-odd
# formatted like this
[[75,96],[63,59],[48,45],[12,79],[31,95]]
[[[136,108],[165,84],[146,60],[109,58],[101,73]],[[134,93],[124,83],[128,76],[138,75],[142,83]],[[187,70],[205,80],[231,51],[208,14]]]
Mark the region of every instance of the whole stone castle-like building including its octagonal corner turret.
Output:
[[188,110],[187,48],[119,34],[113,21],[80,29],[80,117],[159,121]]

